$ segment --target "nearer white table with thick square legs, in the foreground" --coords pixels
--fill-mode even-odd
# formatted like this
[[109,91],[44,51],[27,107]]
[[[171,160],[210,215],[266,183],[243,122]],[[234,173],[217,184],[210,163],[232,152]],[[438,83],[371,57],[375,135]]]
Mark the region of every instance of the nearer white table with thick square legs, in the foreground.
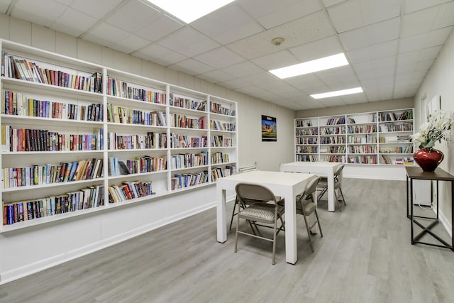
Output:
[[297,256],[297,209],[296,196],[304,191],[313,175],[289,172],[255,170],[220,178],[216,181],[217,240],[227,241],[226,190],[235,190],[236,184],[248,182],[268,187],[275,195],[285,199],[285,260],[296,263]]

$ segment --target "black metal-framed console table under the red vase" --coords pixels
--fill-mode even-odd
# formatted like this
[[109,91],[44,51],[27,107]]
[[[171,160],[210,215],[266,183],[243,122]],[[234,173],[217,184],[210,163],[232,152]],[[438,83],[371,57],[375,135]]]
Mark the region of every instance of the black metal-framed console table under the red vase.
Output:
[[[420,243],[426,244],[430,246],[438,246],[443,248],[449,248],[450,250],[454,251],[454,226],[453,226],[453,219],[454,218],[454,176],[450,175],[448,172],[445,172],[441,168],[437,168],[435,172],[424,172],[421,170],[420,167],[411,166],[405,167],[406,170],[406,216],[411,219],[411,244]],[[427,217],[427,216],[416,216],[414,215],[414,205],[413,205],[413,180],[431,180],[436,181],[436,193],[437,193],[437,208],[436,208],[436,217]],[[438,224],[438,182],[450,182],[451,184],[451,243],[447,243],[442,238],[436,235],[431,228]],[[428,226],[424,226],[421,224],[420,221],[417,219],[428,219],[431,221]],[[423,228],[423,230],[414,236],[414,224],[418,225],[419,227]],[[433,238],[436,238],[441,244],[434,244],[434,243],[427,243],[423,241],[419,241],[419,239],[424,234],[430,234]]]

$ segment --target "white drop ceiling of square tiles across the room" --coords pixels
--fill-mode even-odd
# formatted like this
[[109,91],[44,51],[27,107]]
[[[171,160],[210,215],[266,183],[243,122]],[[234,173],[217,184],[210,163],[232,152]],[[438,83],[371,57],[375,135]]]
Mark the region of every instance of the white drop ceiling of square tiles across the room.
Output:
[[[445,0],[236,0],[189,25],[145,0],[0,0],[0,11],[292,110],[414,97],[454,26]],[[336,53],[350,65],[267,72]],[[364,92],[309,97],[352,87]]]

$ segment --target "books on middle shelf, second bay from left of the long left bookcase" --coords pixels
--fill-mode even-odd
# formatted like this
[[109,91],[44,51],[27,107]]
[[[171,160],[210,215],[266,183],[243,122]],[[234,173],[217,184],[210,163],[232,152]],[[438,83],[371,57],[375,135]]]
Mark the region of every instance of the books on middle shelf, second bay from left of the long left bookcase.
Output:
[[166,148],[167,134],[148,131],[147,135],[118,135],[108,133],[107,147],[109,150],[138,150],[145,148]]

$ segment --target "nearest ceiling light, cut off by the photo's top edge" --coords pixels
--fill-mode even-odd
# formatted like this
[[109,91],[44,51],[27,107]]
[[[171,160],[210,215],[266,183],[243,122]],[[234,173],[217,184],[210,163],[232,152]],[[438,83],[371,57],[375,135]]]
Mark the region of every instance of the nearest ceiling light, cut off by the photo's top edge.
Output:
[[234,0],[148,0],[186,23],[216,11]]

